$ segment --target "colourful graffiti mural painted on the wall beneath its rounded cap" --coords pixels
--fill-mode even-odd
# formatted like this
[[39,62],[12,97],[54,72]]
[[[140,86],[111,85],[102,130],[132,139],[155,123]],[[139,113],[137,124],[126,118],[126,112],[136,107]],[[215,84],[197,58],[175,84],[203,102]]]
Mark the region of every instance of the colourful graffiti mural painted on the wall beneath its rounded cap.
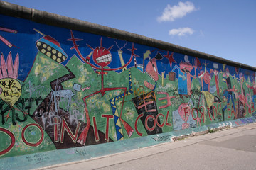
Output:
[[255,72],[0,15],[0,159],[247,118]]

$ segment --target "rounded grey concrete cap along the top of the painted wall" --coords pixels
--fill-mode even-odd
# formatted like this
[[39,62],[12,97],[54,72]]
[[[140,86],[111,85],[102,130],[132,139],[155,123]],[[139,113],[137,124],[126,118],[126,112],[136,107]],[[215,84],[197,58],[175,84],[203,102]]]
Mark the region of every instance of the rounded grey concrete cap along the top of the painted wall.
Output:
[[94,33],[97,35],[104,35],[111,38],[127,40],[127,41],[135,42],[138,44],[142,44],[142,45],[156,47],[162,50],[174,51],[174,52],[182,53],[184,55],[191,55],[193,57],[200,57],[200,58],[212,60],[213,62],[222,62],[224,64],[229,64],[235,67],[242,67],[244,69],[251,69],[253,71],[256,71],[256,67],[252,67],[247,64],[242,64],[238,62],[233,62],[231,60],[226,60],[221,57],[216,57],[214,55],[206,54],[204,52],[191,50],[186,47],[181,47],[178,45],[171,44],[169,42],[147,38],[143,35],[129,33],[124,30],[118,30],[115,28],[107,27],[107,26],[101,26],[95,23],[81,21],[75,18],[60,16],[58,14],[48,13],[46,11],[39,11],[33,8],[26,8],[24,6],[18,6],[16,4],[11,4],[9,2],[1,1],[1,0],[0,0],[0,13],[7,16],[14,16],[16,18],[28,19],[37,23],[48,24],[51,26],[58,26],[62,28],[68,28],[71,30],[79,30],[82,32]]

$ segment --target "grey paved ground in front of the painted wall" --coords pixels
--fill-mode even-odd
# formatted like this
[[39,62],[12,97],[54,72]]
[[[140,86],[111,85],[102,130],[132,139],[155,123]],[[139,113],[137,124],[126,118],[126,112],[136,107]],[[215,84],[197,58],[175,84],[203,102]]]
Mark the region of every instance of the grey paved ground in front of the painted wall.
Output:
[[256,123],[45,169],[256,169]]

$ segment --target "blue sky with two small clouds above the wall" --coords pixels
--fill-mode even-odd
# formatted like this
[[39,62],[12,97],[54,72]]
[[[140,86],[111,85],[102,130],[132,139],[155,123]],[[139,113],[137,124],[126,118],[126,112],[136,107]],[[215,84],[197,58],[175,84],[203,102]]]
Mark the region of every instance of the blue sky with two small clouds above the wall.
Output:
[[5,0],[256,67],[256,1]]

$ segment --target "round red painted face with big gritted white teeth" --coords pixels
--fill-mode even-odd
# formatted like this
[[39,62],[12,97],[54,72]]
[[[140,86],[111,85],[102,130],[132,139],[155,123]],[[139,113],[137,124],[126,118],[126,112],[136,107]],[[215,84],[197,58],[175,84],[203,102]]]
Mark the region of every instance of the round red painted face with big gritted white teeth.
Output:
[[112,55],[105,47],[96,47],[93,50],[92,59],[100,67],[105,67],[112,61]]

